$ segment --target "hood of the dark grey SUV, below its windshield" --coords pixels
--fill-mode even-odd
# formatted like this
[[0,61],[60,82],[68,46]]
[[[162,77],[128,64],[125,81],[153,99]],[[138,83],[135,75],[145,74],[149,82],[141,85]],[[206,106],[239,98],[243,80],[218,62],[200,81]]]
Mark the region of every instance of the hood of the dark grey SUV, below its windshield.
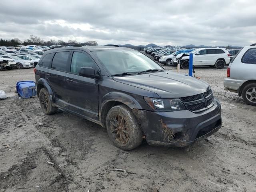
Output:
[[180,98],[210,90],[208,83],[172,71],[114,77],[113,79],[120,83],[154,92],[161,98]]

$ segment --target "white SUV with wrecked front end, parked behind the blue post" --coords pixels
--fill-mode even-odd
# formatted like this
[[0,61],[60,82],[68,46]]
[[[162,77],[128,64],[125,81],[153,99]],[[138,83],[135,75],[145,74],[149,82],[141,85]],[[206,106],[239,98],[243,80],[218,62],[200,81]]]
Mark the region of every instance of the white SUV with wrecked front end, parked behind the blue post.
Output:
[[[215,66],[218,69],[224,68],[230,62],[230,54],[224,48],[201,48],[190,52],[193,53],[194,66]],[[178,59],[182,69],[188,69],[189,54]]]

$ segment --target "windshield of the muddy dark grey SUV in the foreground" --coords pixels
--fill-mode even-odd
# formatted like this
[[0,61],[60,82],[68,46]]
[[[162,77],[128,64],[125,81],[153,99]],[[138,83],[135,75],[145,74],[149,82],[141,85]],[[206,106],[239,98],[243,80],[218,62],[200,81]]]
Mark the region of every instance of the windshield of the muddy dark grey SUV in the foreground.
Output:
[[93,53],[111,75],[132,72],[137,73],[149,69],[164,70],[156,62],[138,51],[106,50],[95,51]]

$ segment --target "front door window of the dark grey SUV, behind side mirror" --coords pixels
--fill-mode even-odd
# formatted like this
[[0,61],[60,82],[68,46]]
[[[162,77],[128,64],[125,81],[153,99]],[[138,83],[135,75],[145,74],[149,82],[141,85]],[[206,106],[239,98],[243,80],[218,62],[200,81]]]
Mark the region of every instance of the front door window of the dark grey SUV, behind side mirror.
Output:
[[81,67],[95,68],[95,64],[87,53],[74,52],[72,56],[70,72],[79,74]]

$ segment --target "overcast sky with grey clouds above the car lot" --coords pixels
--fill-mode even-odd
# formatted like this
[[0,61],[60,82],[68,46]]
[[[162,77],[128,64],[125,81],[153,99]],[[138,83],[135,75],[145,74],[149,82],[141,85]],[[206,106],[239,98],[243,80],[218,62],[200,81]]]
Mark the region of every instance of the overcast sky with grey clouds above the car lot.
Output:
[[104,44],[256,43],[256,0],[1,0],[0,38]]

